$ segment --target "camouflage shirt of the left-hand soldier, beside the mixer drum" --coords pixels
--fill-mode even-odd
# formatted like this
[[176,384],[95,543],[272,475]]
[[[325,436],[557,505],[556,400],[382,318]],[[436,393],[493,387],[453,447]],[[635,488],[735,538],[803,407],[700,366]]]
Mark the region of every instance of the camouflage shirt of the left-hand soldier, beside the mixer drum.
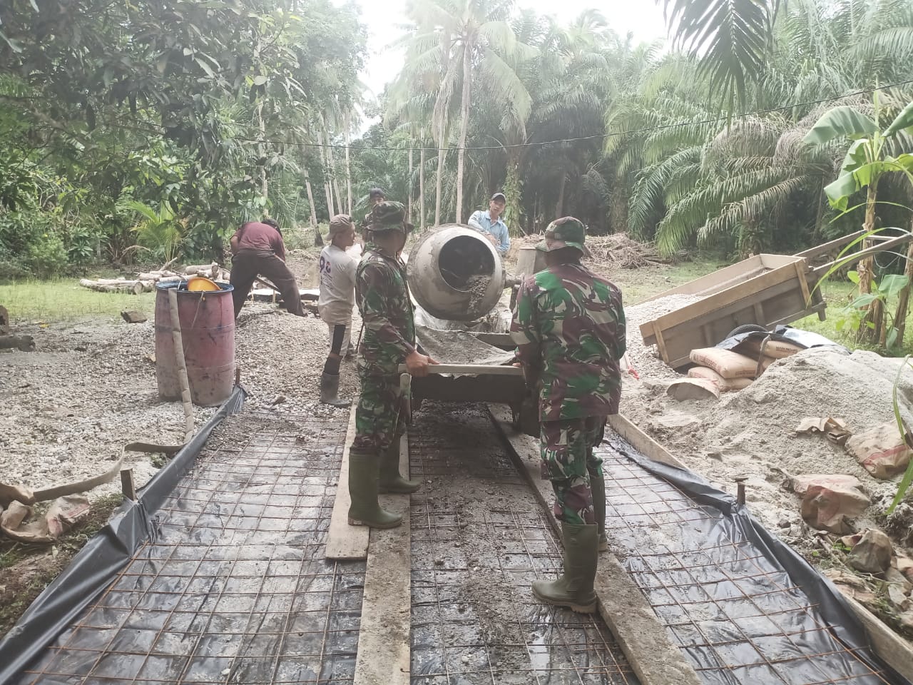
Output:
[[355,273],[355,301],[362,312],[364,337],[358,369],[367,374],[395,374],[415,351],[415,320],[405,280],[405,266],[373,245]]

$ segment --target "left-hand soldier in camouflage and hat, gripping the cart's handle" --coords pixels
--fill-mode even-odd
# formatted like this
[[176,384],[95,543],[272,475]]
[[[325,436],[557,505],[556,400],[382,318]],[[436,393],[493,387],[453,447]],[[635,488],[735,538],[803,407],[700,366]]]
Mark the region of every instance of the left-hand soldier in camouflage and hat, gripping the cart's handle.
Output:
[[412,226],[398,202],[374,205],[370,240],[355,273],[355,301],[362,312],[364,337],[358,376],[362,395],[355,410],[355,439],[349,450],[350,525],[394,528],[403,517],[384,511],[380,492],[415,492],[418,482],[399,472],[399,365],[424,376],[435,360],[415,349],[415,321],[406,285],[405,265],[398,257]]

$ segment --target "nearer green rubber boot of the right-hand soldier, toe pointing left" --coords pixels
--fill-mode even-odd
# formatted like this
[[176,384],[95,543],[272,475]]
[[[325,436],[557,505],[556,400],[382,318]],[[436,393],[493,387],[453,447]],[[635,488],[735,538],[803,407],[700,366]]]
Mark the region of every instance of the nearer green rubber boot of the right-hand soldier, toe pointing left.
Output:
[[578,614],[596,611],[596,564],[599,553],[596,541],[599,532],[594,525],[561,523],[564,540],[564,574],[558,580],[537,580],[532,594],[553,606],[567,606]]

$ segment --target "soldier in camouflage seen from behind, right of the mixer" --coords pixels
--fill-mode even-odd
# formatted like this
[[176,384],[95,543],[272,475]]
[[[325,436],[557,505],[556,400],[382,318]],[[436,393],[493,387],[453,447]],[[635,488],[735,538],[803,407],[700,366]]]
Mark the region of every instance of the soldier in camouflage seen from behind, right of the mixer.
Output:
[[593,613],[597,557],[608,546],[605,481],[593,447],[605,417],[618,413],[625,331],[621,291],[580,263],[585,237],[572,216],[551,223],[536,246],[548,268],[520,286],[510,333],[527,383],[539,391],[542,476],[555,491],[564,539],[564,574],[534,582],[532,591]]

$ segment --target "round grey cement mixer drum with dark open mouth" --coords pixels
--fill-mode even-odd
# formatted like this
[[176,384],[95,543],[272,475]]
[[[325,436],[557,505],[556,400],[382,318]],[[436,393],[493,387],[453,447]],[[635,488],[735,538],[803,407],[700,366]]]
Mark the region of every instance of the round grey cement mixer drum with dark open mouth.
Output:
[[480,319],[504,292],[498,252],[478,231],[459,224],[420,237],[409,251],[406,277],[422,309],[447,321]]

